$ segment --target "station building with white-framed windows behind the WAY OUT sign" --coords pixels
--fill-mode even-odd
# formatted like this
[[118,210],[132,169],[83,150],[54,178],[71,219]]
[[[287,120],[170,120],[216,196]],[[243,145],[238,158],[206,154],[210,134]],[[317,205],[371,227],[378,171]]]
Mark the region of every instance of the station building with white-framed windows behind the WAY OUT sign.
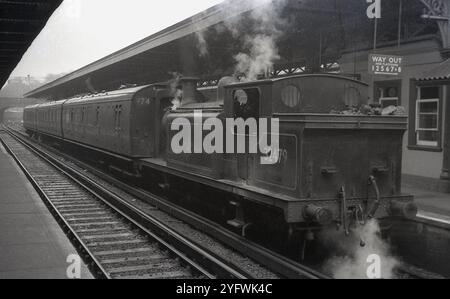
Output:
[[[409,2],[409,1],[408,1]],[[418,1],[427,2],[427,1]],[[399,36],[367,48],[348,51],[339,59],[340,71],[361,76],[370,96],[383,107],[403,106],[408,111],[408,132],[403,147],[403,183],[415,188],[450,193],[450,60],[448,59],[449,1],[441,10],[427,10],[421,19],[436,22],[434,34]],[[400,14],[401,16],[401,14]],[[422,21],[422,20],[420,20]],[[382,20],[381,20],[382,22]],[[402,20],[399,20],[402,24]],[[370,54],[399,56],[398,75],[373,75]],[[450,199],[450,197],[449,197]]]

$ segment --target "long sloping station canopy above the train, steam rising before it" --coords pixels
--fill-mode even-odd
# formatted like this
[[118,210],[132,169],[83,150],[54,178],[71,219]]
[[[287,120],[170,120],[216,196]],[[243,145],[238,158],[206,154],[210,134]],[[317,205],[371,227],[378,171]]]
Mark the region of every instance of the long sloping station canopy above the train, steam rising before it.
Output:
[[[378,45],[439,36],[436,22],[421,18],[420,0],[403,1],[408,3],[402,8],[400,1],[382,1]],[[246,64],[257,70],[270,66],[267,76],[339,73],[344,53],[374,47],[374,20],[367,17],[366,1],[277,0],[266,5],[225,1],[26,96],[57,100],[167,81],[175,73],[199,77],[208,86]]]

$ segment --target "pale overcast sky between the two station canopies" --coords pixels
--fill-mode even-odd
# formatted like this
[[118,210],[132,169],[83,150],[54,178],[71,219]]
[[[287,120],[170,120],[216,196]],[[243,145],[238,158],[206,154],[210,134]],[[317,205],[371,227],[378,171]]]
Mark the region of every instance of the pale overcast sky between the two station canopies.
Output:
[[74,71],[223,0],[64,0],[12,76]]

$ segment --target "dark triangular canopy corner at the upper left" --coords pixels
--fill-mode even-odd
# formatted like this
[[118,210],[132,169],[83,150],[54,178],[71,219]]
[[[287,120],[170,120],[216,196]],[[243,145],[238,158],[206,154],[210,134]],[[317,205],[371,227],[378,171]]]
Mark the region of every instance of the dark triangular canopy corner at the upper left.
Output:
[[0,86],[62,0],[0,0]]

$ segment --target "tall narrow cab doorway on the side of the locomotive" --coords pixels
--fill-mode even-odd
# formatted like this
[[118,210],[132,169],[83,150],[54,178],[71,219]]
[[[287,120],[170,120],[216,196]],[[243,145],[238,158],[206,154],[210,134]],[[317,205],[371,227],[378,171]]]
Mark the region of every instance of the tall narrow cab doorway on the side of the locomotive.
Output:
[[[251,148],[258,150],[258,125],[260,92],[257,88],[238,89],[233,92],[234,119],[236,124],[245,121],[245,128],[235,126],[235,153],[237,157],[238,176],[242,180],[249,179],[250,167],[257,156],[251,152]],[[256,142],[256,144],[255,144]],[[239,147],[245,146],[245,153],[239,151]]]

